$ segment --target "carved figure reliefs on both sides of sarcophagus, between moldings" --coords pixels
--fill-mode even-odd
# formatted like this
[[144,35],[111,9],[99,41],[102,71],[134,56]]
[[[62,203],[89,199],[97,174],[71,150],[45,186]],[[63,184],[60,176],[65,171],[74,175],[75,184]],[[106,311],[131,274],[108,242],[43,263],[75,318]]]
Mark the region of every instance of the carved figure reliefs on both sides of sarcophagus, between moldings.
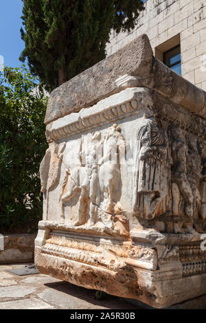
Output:
[[[143,93],[148,96],[137,91],[121,105],[125,118],[116,115],[118,124],[98,129],[93,115],[93,129],[70,139],[66,127],[59,142],[51,139],[57,133],[49,126],[40,168],[45,219],[58,215],[60,223],[73,228],[120,235],[128,234],[131,223],[168,233],[204,232],[203,139],[185,125],[162,119],[159,107]],[[104,112],[108,120],[118,107],[109,109]]]

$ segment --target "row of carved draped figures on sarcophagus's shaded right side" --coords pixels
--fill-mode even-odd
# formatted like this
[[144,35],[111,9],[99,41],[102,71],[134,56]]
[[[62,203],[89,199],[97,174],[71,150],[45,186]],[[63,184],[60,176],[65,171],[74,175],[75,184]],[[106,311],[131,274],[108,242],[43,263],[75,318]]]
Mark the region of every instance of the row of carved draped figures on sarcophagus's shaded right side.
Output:
[[203,146],[201,139],[179,126],[163,127],[154,117],[143,118],[133,151],[134,214],[143,216],[148,223],[165,214],[162,218],[165,232],[202,232],[200,220],[205,219]]

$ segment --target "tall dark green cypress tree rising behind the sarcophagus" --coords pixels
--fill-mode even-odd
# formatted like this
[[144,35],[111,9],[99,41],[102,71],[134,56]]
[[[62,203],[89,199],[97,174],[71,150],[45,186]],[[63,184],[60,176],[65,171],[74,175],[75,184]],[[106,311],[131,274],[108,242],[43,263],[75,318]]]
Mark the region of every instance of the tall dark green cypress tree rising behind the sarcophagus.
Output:
[[52,90],[105,58],[111,29],[132,30],[143,9],[141,0],[23,0],[20,60]]

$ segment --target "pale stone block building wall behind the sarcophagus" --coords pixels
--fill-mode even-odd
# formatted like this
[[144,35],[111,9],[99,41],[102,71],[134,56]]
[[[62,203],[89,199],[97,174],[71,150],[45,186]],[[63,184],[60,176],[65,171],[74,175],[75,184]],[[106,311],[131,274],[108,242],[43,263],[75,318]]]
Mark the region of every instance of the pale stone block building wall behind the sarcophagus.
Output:
[[144,33],[159,60],[180,43],[182,76],[206,90],[206,0],[147,0],[135,30],[111,34],[107,55]]

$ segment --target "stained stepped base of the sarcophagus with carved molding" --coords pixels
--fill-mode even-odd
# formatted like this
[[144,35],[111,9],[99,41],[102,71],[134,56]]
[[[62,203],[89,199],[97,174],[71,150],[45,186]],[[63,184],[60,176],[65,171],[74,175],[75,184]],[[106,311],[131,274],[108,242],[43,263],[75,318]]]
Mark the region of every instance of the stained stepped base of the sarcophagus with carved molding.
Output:
[[[151,232],[148,232],[144,243],[136,244],[120,236],[76,236],[68,228],[62,231],[63,225],[61,230],[51,230],[51,221],[41,221],[40,225],[35,263],[42,274],[88,289],[140,300],[159,309],[205,293],[206,262],[202,260],[201,266],[195,261],[198,244],[186,243],[186,240],[190,241],[190,234],[183,236],[184,249],[183,245],[177,245],[174,234],[156,233],[156,238],[151,238]],[[141,238],[139,232],[138,240]],[[167,251],[157,243],[163,238],[166,245],[166,240],[173,245]]]

